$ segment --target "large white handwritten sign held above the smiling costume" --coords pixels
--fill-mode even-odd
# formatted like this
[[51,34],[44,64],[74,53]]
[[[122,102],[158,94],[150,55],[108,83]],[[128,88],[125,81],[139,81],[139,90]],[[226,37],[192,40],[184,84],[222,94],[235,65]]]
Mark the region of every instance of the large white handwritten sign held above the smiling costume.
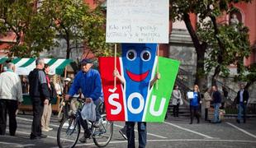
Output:
[[107,43],[168,44],[168,0],[107,0]]

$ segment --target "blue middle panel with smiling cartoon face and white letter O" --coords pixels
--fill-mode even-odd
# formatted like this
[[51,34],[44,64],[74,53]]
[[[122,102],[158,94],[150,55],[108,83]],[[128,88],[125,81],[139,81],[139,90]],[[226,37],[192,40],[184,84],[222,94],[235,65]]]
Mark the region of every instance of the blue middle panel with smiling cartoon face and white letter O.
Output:
[[122,44],[128,120],[141,121],[154,73],[157,44]]

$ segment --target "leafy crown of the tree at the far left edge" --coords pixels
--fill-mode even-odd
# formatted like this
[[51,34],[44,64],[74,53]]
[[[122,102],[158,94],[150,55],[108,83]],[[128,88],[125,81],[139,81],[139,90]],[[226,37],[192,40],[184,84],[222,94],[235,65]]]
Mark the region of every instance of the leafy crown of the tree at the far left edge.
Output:
[[0,34],[13,32],[16,42],[10,48],[10,57],[38,56],[54,45],[52,21],[36,12],[33,0],[1,0]]

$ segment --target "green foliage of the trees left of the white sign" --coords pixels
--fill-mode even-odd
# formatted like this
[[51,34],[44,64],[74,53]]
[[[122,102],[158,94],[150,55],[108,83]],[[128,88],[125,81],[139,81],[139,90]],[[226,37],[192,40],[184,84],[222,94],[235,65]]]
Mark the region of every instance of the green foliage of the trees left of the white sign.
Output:
[[83,0],[0,0],[0,34],[14,32],[11,56],[32,57],[65,39],[67,58],[72,49],[87,46],[96,55],[110,55],[105,42],[106,19],[100,7],[91,10]]

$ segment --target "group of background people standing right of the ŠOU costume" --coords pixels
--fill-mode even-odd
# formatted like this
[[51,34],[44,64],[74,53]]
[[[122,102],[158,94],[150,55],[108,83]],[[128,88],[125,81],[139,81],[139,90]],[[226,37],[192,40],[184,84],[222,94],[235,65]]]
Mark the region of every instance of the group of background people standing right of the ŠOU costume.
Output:
[[[239,85],[240,90],[237,92],[235,97],[235,104],[238,108],[237,123],[243,117],[244,123],[246,123],[246,106],[249,100],[249,92],[244,89],[244,84]],[[189,103],[190,109],[190,124],[193,123],[193,118],[197,118],[197,123],[200,123],[200,118],[204,118],[205,121],[210,123],[221,123],[220,109],[225,109],[225,103],[228,100],[228,91],[225,87],[222,88],[223,93],[220,93],[217,86],[211,86],[204,93],[199,90],[197,85],[193,86],[191,92],[187,92],[186,97]],[[182,103],[182,94],[178,90],[178,86],[175,85],[173,88],[171,104],[173,105],[173,117],[178,117],[179,106]],[[211,107],[213,110],[213,118],[209,118],[209,111]],[[167,118],[167,117],[166,117]]]

